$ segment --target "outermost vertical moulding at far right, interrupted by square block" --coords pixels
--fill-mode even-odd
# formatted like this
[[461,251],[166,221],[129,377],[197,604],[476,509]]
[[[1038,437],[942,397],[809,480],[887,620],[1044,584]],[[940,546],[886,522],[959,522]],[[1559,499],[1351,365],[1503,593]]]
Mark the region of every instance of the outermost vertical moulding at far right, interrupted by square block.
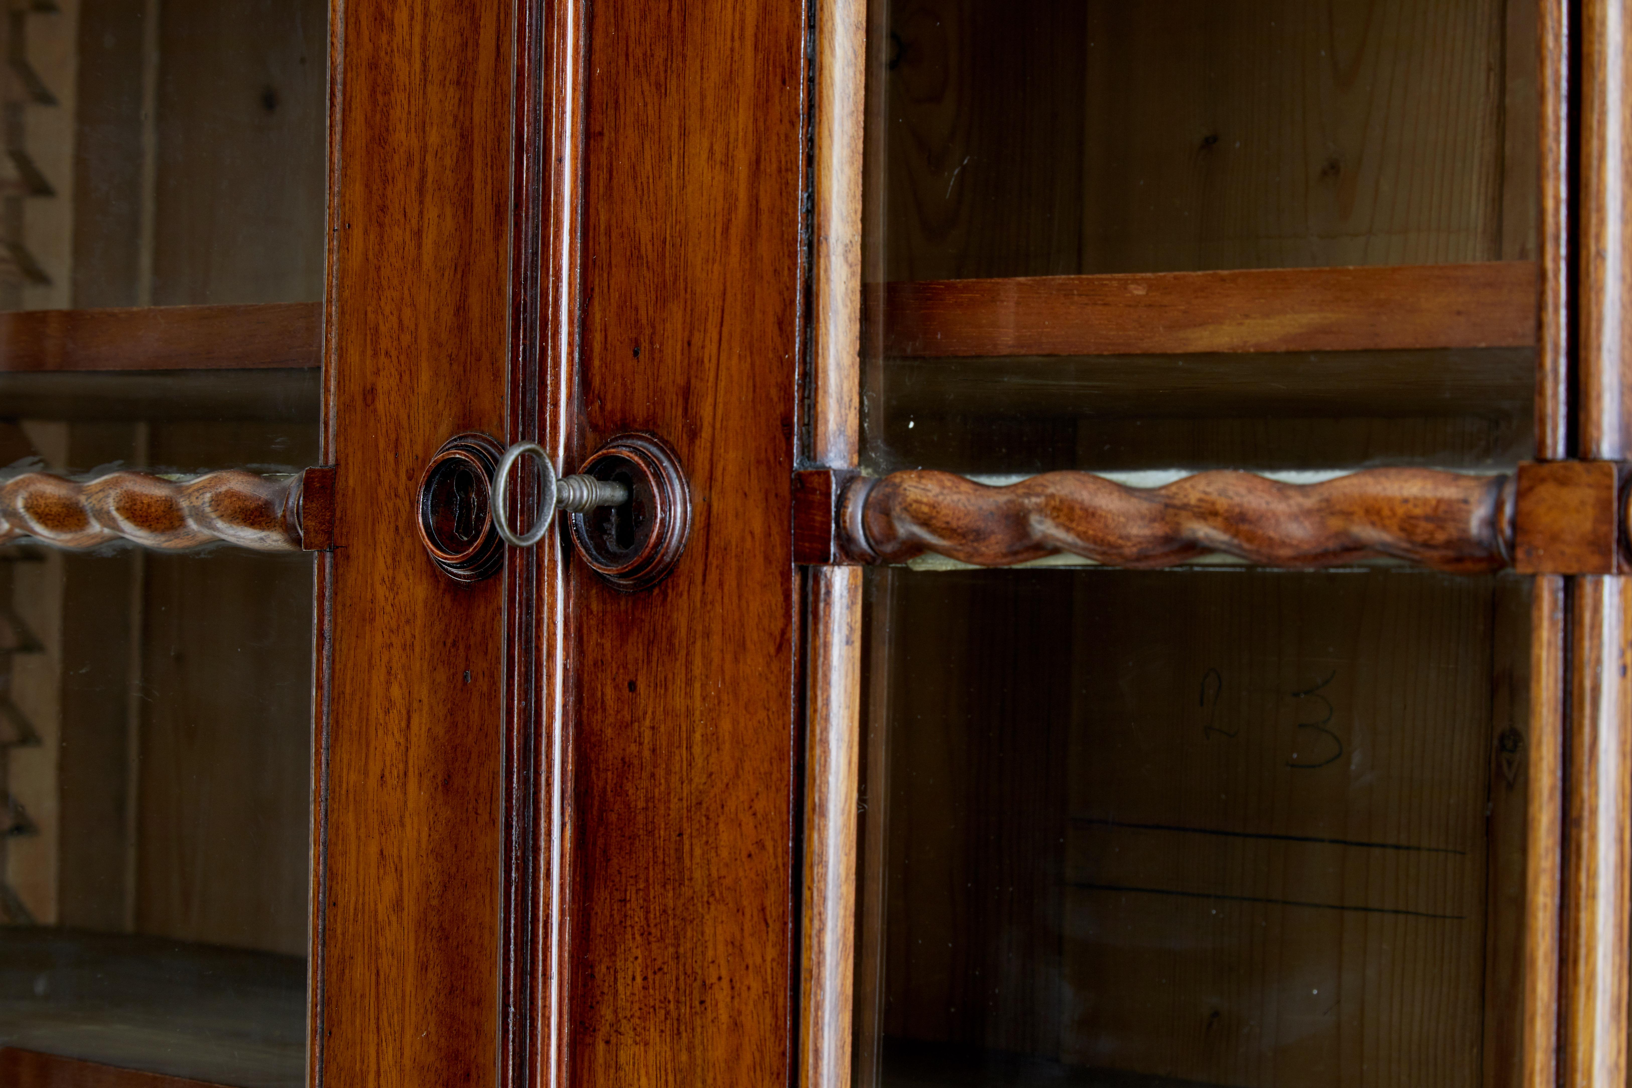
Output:
[[[1632,453],[1632,28],[1624,5],[1581,5],[1580,303],[1575,455]],[[1578,577],[1568,615],[1568,765],[1562,1080],[1621,1088],[1627,1080],[1627,961],[1632,953],[1632,586]]]

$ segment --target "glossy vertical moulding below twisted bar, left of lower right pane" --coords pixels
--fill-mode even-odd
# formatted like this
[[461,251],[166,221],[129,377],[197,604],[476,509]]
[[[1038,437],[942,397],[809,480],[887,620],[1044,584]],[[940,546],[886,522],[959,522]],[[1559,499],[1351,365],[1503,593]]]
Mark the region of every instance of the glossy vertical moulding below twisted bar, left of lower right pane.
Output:
[[805,703],[805,896],[800,1081],[850,1083],[855,1018],[862,569],[809,573]]

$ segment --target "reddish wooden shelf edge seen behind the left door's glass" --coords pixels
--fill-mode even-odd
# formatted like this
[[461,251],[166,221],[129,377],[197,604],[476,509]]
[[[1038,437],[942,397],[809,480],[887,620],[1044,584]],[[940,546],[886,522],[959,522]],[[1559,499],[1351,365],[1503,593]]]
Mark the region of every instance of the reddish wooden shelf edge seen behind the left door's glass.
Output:
[[315,302],[0,313],[0,372],[317,367],[322,326]]

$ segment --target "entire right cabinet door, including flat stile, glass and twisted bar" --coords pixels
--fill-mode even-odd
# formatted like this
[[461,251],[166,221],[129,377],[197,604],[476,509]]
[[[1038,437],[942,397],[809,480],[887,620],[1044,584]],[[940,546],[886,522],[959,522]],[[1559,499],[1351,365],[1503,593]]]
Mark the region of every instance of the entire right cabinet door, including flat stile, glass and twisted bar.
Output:
[[530,46],[511,437],[694,520],[529,559],[508,1054],[1624,1081],[1614,5],[809,16]]

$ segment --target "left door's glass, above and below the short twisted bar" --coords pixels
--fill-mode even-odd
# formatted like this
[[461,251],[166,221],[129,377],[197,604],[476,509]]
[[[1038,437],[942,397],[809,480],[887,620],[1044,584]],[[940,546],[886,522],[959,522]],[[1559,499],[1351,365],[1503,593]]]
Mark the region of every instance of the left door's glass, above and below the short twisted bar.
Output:
[[[0,484],[320,462],[326,16],[10,11]],[[305,1083],[313,576],[0,545],[0,1080]]]

